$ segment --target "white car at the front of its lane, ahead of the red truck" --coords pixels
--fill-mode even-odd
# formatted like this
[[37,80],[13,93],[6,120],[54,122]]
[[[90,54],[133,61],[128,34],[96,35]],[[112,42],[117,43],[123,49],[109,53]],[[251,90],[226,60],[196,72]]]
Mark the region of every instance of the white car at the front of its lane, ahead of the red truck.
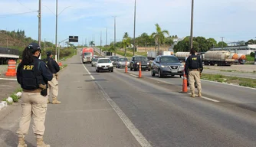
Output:
[[111,71],[113,72],[113,64],[109,58],[99,58],[95,67],[96,72]]

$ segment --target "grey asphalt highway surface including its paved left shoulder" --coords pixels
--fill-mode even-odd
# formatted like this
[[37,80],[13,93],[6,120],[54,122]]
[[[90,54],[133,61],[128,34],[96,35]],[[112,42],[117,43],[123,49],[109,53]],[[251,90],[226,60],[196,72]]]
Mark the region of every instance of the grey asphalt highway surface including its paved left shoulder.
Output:
[[[256,113],[248,109],[256,103],[255,90],[203,81],[203,95],[216,101],[190,98],[179,93],[179,77],[159,79],[143,71],[137,78],[137,72],[116,68],[97,73],[79,55],[65,64],[62,103],[48,105],[44,140],[51,146],[256,146]],[[231,98],[228,92],[238,94]],[[20,110],[0,121],[0,146],[17,145]],[[27,141],[35,146],[31,132]]]

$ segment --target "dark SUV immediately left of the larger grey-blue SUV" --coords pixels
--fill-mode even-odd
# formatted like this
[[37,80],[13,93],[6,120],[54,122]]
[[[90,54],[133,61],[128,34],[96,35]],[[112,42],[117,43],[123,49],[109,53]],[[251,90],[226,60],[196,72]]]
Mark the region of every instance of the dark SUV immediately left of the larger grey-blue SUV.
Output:
[[141,62],[141,70],[151,70],[149,60],[145,56],[133,56],[130,61],[130,70],[139,70],[139,62]]

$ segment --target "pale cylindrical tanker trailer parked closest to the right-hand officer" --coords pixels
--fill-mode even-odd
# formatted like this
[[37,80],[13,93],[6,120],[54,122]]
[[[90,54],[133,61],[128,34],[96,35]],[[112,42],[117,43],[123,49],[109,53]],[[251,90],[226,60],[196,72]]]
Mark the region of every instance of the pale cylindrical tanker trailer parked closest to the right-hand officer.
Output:
[[228,59],[229,56],[230,52],[228,51],[207,51],[203,62],[205,65],[231,66],[231,64],[234,64],[235,59]]

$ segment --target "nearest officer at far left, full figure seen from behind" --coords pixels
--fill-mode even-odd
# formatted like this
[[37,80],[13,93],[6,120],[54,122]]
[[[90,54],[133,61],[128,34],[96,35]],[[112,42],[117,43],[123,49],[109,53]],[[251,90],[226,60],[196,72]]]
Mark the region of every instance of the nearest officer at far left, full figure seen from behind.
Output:
[[52,73],[42,60],[39,60],[41,48],[36,43],[31,43],[22,53],[22,61],[18,64],[17,80],[21,84],[22,116],[19,123],[18,147],[27,147],[25,135],[31,122],[34,120],[33,131],[38,147],[50,147],[43,141],[44,121],[47,111],[47,85],[52,80]]

